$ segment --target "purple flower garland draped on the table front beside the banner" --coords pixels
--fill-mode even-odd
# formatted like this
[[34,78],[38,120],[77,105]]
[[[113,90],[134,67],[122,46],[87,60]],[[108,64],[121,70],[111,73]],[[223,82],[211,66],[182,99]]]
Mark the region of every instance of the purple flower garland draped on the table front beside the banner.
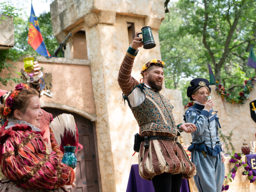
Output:
[[[231,171],[228,173],[227,176],[224,177],[224,185],[222,186],[222,190],[221,191],[227,191],[229,188],[228,182],[232,182],[232,179],[234,180],[235,176],[236,176],[236,171],[239,167],[244,167],[244,172],[242,173],[242,175],[247,175],[248,180],[250,180],[250,183],[254,182],[256,179],[256,176],[253,176],[252,174],[252,170],[249,171],[250,166],[248,164],[245,164],[244,161],[242,161],[242,156],[240,153],[235,153],[235,151],[233,151],[232,155],[231,155],[231,159],[229,160],[230,163],[233,163],[233,167],[231,169]],[[231,179],[232,178],[232,179]]]

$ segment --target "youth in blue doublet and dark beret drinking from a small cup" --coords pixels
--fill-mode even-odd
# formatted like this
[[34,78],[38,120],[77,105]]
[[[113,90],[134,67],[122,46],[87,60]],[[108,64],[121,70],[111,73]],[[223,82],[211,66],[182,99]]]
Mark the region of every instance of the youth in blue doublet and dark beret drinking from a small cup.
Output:
[[187,96],[195,104],[186,110],[185,117],[187,123],[197,127],[191,132],[193,143],[188,148],[191,161],[196,165],[194,179],[199,192],[220,192],[225,174],[225,157],[218,136],[220,123],[217,114],[211,114],[212,99],[204,100],[210,95],[211,87],[209,81],[203,78],[193,79],[190,84]]

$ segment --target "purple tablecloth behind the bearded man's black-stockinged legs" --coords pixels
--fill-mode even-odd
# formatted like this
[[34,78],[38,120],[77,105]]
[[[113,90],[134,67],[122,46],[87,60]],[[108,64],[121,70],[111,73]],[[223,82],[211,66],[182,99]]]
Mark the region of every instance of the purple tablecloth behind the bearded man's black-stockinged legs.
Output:
[[[155,192],[152,181],[140,177],[138,164],[131,167],[126,192]],[[189,192],[188,180],[182,180],[180,192]]]

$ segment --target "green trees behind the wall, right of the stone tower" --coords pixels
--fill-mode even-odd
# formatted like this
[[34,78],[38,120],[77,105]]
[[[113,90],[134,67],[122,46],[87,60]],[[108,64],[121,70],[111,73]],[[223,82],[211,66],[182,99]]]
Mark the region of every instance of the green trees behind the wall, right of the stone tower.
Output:
[[165,77],[172,77],[166,87],[178,87],[185,96],[192,78],[209,78],[209,63],[216,80],[237,94],[245,78],[255,75],[246,64],[256,39],[256,2],[179,0],[168,10],[159,30]]

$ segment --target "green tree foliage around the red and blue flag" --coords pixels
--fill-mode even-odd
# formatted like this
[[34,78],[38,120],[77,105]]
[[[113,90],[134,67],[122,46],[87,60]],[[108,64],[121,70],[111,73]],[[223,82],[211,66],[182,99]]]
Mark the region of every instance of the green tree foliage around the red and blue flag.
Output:
[[[14,25],[14,39],[15,46],[7,50],[0,50],[0,72],[4,69],[8,70],[8,73],[4,77],[0,77],[0,83],[6,85],[8,81],[14,81],[18,83],[21,81],[20,78],[16,78],[14,74],[21,75],[17,68],[15,68],[11,62],[16,62],[26,55],[37,56],[39,55],[29,44],[28,44],[28,26],[29,18],[26,20],[21,18],[22,9],[17,9],[14,6],[4,2],[0,3],[0,14],[9,15],[13,17]],[[0,17],[5,19],[4,17]],[[54,50],[59,46],[57,40],[53,36],[52,32],[52,21],[50,12],[43,12],[37,17],[39,28],[44,38],[44,43],[48,52],[53,55]],[[59,52],[59,57],[62,57],[62,52]]]

